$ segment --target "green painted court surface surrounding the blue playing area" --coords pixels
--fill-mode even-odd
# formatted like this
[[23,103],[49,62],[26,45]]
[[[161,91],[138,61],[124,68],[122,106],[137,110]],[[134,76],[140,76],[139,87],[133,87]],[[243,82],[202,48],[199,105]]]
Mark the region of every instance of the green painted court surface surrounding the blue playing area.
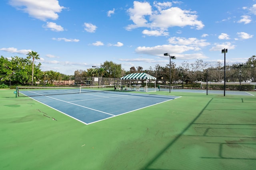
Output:
[[182,97],[85,125],[0,90],[0,169],[256,169],[256,92],[152,93]]

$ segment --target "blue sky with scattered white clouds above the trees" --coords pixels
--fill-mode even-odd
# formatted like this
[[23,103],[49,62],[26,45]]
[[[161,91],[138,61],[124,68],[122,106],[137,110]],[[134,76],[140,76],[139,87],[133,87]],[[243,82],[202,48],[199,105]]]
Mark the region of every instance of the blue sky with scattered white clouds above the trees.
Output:
[[1,0],[0,55],[40,55],[41,70],[74,74],[105,61],[124,70],[176,56],[212,65],[255,53],[256,0]]

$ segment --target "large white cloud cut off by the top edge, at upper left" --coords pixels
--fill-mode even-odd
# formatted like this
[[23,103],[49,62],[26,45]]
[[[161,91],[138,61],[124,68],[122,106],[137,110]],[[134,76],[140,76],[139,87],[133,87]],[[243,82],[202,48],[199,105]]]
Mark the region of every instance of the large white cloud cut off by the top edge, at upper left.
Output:
[[65,8],[58,0],[10,0],[10,5],[42,21],[57,20],[57,13]]

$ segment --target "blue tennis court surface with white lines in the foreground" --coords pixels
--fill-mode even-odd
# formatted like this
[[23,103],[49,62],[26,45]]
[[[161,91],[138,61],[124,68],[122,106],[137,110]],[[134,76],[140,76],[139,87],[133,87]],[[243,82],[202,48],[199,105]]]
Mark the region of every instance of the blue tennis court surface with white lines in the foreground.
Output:
[[[31,92],[20,93],[27,95]],[[30,98],[88,125],[179,97],[124,92],[92,92]]]

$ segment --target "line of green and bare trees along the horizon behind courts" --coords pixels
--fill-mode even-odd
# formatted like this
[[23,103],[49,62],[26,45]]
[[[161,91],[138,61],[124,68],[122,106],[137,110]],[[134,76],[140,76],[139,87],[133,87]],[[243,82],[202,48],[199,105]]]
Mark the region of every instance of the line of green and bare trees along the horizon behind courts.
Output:
[[[54,81],[75,80],[76,84],[83,83],[84,80],[91,80],[92,77],[103,78],[120,78],[130,73],[146,72],[157,78],[163,84],[169,83],[170,65],[160,66],[156,64],[154,68],[143,69],[141,66],[136,68],[132,66],[130,70],[124,70],[121,64],[112,61],[105,61],[100,66],[88,68],[87,70],[75,70],[74,75],[66,75],[57,71],[42,71],[41,63],[34,64],[35,60],[40,59],[39,55],[31,51],[27,58],[11,57],[7,59],[3,56],[0,58],[0,78],[1,84],[7,85],[51,85]],[[32,61],[30,60],[32,59]],[[248,58],[246,63],[226,64],[226,81],[227,82],[256,82],[256,56]],[[211,82],[223,82],[224,64],[217,62],[214,65],[205,63],[203,60],[196,60],[194,63],[184,61],[181,66],[176,66],[171,61],[171,83],[193,84],[198,81],[206,80]],[[241,79],[241,80],[240,80]]]

